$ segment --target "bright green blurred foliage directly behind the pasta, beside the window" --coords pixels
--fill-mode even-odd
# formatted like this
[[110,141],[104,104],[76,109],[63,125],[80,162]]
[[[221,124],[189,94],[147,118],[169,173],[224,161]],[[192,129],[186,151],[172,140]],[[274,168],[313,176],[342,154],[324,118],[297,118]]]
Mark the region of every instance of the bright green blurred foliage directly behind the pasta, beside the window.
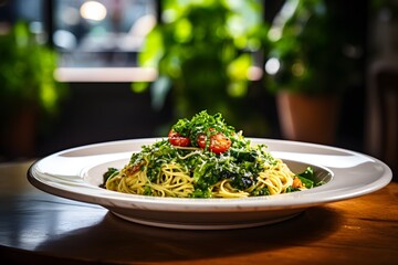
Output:
[[140,66],[155,67],[159,77],[151,84],[134,83],[133,89],[150,87],[158,109],[171,98],[177,117],[220,112],[231,124],[249,128],[252,123],[260,131],[264,120],[255,118],[245,99],[253,80],[260,78],[253,75],[259,72],[253,57],[266,40],[261,3],[169,0],[163,1],[161,18],[138,57]]

